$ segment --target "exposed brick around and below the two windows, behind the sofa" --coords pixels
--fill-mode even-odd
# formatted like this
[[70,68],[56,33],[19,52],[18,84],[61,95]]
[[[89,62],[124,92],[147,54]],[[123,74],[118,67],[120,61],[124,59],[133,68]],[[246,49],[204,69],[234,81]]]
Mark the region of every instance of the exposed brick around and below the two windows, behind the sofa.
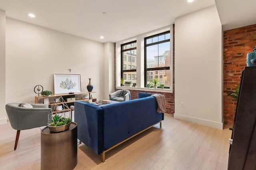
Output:
[[[173,93],[163,93],[160,92],[160,94],[163,94],[165,96],[165,105],[166,105],[166,113],[174,113],[174,31],[175,27],[173,25],[173,54],[172,54],[172,59],[173,59]],[[116,46],[114,47],[114,51],[116,51]],[[114,53],[114,69],[115,69],[115,75],[116,75],[116,52]],[[116,80],[115,80],[116,82]],[[115,89],[118,90],[118,89]],[[131,99],[137,99],[138,98],[138,93],[139,92],[146,92],[146,91],[140,91],[140,90],[130,90],[131,92]],[[148,93],[159,93],[159,92],[148,92]]]

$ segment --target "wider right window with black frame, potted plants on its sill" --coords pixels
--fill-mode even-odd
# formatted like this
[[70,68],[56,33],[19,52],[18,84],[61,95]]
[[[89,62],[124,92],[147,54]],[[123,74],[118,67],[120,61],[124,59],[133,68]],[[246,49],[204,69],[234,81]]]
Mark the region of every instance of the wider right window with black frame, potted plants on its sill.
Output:
[[[170,87],[170,31],[152,35],[144,38],[144,51],[145,51],[145,81],[144,86],[150,82],[146,78],[147,72],[154,71],[154,78],[158,79],[156,74],[162,73],[166,76],[166,87]],[[168,56],[168,57],[166,57]],[[161,62],[160,62],[161,61]],[[152,64],[152,66],[151,66]],[[159,76],[160,77],[160,76]],[[158,79],[159,80],[159,79]],[[160,80],[159,80],[160,82]],[[161,81],[162,82],[162,81]]]

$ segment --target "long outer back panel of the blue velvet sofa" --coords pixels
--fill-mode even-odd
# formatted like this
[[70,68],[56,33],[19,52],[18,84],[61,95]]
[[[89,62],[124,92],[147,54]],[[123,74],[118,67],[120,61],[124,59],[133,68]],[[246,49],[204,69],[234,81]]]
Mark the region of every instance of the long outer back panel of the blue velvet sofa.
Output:
[[157,113],[154,97],[140,98],[102,106],[104,110],[104,149],[135,135],[163,120]]

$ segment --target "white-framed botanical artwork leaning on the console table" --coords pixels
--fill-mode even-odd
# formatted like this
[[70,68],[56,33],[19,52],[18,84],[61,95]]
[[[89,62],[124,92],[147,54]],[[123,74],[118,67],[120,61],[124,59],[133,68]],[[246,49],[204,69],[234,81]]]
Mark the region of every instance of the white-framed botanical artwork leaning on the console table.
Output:
[[81,92],[80,74],[54,74],[54,94]]

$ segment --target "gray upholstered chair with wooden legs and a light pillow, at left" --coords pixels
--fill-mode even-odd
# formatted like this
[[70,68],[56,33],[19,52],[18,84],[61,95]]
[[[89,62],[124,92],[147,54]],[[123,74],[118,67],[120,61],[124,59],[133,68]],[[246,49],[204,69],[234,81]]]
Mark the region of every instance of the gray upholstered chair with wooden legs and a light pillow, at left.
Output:
[[17,130],[14,150],[17,148],[21,130],[46,126],[48,114],[52,114],[52,109],[47,104],[9,103],[5,109],[12,128]]

